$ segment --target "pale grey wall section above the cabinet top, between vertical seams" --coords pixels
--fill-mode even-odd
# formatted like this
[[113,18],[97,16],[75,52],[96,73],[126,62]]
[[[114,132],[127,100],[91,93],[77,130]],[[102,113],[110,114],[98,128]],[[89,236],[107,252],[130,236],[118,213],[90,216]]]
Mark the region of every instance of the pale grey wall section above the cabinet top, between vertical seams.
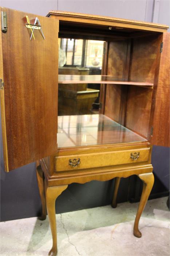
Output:
[[[146,20],[147,0],[59,0],[62,11],[84,12],[116,18]],[[152,11],[152,8],[151,8]],[[149,16],[149,15],[148,15]],[[147,17],[150,19],[150,17]]]

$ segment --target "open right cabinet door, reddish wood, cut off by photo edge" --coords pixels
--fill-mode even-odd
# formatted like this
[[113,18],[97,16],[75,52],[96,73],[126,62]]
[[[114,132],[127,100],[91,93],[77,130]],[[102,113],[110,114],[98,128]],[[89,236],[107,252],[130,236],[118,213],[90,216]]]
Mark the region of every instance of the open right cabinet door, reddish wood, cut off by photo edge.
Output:
[[157,73],[157,95],[151,144],[170,146],[170,33],[163,33],[163,48]]

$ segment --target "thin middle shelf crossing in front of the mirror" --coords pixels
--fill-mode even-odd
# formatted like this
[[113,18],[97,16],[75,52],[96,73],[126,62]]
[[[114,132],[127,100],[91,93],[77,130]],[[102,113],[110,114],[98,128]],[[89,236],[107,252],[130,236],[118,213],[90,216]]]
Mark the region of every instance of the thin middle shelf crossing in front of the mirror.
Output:
[[59,75],[58,82],[60,84],[69,83],[102,83],[102,84],[129,84],[135,86],[142,86],[147,88],[153,88],[153,83],[147,82],[126,82],[126,81],[115,81],[112,76],[102,75]]

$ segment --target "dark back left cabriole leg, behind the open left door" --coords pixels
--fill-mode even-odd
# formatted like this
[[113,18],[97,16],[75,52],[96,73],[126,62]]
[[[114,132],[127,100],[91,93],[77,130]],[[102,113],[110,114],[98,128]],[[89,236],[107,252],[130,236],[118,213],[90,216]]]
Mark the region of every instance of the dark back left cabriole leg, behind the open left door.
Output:
[[38,218],[41,221],[44,221],[44,219],[46,219],[46,216],[47,216],[47,209],[46,209],[46,197],[45,197],[45,191],[44,191],[44,173],[40,165],[36,167],[36,175],[37,175],[37,183],[38,183],[40,198],[42,203],[42,214]]

